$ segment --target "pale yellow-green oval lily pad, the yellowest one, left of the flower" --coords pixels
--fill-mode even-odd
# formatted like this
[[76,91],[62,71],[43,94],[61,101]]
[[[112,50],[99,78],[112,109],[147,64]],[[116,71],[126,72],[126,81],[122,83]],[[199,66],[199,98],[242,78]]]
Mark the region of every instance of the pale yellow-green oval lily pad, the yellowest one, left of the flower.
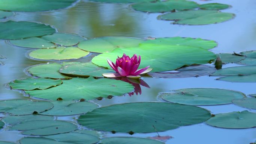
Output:
[[57,47],[51,49],[33,50],[28,55],[31,58],[42,60],[68,60],[82,58],[88,54],[89,52],[75,47]]

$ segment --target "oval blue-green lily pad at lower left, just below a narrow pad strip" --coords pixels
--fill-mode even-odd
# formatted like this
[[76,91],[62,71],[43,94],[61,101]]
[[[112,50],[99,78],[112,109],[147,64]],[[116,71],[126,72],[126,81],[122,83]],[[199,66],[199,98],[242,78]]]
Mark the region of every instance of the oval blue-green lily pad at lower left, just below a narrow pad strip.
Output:
[[77,129],[74,123],[62,120],[32,120],[17,123],[9,130],[23,131],[24,135],[54,135],[71,132]]

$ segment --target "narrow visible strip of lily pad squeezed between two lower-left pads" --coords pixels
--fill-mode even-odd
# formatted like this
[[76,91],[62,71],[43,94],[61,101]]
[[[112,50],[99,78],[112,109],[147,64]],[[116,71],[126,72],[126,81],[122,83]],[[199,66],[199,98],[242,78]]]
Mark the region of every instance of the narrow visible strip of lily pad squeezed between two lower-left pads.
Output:
[[19,122],[25,122],[30,120],[54,120],[53,116],[42,116],[38,114],[29,114],[24,116],[6,116],[3,118],[3,121],[5,123],[8,123],[9,125],[19,123]]

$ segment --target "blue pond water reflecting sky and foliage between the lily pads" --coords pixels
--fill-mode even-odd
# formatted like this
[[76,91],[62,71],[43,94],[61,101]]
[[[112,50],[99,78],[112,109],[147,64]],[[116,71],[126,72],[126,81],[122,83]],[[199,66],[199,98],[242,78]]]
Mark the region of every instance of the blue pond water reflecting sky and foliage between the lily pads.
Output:
[[[206,1],[194,0],[203,4]],[[219,24],[210,25],[173,25],[170,21],[158,20],[159,13],[143,13],[132,10],[128,4],[97,3],[79,1],[73,7],[50,12],[16,12],[11,20],[36,21],[53,25],[61,33],[74,33],[93,38],[101,36],[129,36],[129,37],[199,37],[215,40],[218,46],[210,51],[214,53],[232,53],[244,50],[255,50],[256,46],[256,1],[255,0],[213,0],[211,2],[232,5],[223,12],[235,13],[235,18]],[[6,20],[6,19],[5,19]],[[8,19],[9,20],[9,19]],[[28,98],[23,94],[5,87],[11,80],[29,77],[24,69],[35,64],[46,63],[27,58],[30,49],[10,45],[8,41],[0,40],[0,54],[7,59],[1,60],[0,67],[0,100]],[[76,61],[88,61],[89,58]],[[209,64],[211,65],[211,64]],[[223,67],[233,67],[237,64],[227,64]],[[124,102],[162,101],[158,98],[160,92],[170,92],[184,88],[220,88],[255,94],[255,83],[232,83],[216,80],[216,77],[201,76],[180,79],[142,78],[150,88],[141,87],[140,95],[116,96],[112,99],[94,100],[98,104],[110,105]],[[249,110],[234,104],[200,106],[213,114],[232,111]],[[1,116],[1,115],[0,115]],[[72,120],[74,116],[58,117],[61,120]],[[77,116],[76,116],[77,117]],[[166,144],[249,144],[256,140],[256,129],[223,129],[215,128],[205,123],[182,126],[170,131],[159,132],[161,136],[172,136]],[[156,133],[134,134],[134,137],[152,137]],[[104,137],[130,136],[129,134],[106,133]],[[16,131],[0,131],[0,140],[16,142],[23,135]]]

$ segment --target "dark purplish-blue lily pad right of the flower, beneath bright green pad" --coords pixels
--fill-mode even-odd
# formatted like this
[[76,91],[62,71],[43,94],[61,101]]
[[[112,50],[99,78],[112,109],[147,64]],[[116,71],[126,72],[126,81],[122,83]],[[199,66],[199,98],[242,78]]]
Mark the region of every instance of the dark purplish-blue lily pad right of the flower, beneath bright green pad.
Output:
[[212,74],[216,71],[216,68],[208,65],[195,65],[189,67],[179,68],[177,71],[180,73],[148,73],[152,77],[162,78],[186,78],[186,77],[198,77]]

